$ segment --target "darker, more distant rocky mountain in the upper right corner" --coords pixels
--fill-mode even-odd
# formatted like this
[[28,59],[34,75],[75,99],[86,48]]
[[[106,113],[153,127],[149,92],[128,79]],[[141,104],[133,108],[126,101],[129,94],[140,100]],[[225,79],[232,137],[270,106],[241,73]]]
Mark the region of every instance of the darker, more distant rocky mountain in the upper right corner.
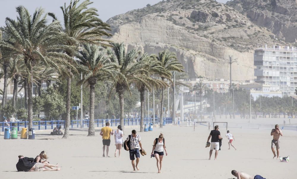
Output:
[[296,0],[234,0],[227,2],[253,23],[271,30],[277,38],[297,42]]

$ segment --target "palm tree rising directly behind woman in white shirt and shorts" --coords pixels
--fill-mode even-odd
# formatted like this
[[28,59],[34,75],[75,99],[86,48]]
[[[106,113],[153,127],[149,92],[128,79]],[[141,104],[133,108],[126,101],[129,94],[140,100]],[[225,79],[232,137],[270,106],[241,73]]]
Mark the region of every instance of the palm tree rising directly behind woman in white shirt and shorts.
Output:
[[119,95],[120,125],[124,126],[124,92],[130,92],[129,86],[132,83],[141,80],[145,82],[145,77],[141,74],[147,73],[148,64],[144,62],[136,63],[138,53],[133,49],[126,54],[124,43],[111,44],[113,45],[113,52],[109,51],[108,53],[111,55],[111,61],[117,63],[119,66],[117,73],[114,75],[111,89],[116,88],[116,92]]

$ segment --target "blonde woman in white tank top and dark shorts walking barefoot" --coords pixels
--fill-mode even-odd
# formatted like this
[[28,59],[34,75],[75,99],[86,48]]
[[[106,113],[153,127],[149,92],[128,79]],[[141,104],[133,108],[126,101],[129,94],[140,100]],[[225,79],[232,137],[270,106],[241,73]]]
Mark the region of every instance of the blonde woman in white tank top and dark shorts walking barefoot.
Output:
[[163,134],[161,133],[159,135],[159,138],[156,138],[154,140],[153,150],[151,152],[151,157],[155,157],[157,160],[158,173],[161,173],[162,160],[163,160],[163,156],[164,156],[163,149],[165,150],[165,153],[167,156],[165,139],[163,137]]

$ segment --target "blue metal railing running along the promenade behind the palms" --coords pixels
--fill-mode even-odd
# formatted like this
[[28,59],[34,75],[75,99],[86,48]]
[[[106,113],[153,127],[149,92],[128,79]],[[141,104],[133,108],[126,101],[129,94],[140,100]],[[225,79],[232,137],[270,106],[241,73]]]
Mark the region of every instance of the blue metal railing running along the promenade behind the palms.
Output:
[[[153,118],[144,118],[143,123],[144,124],[153,123],[153,120],[154,120]],[[171,117],[166,117],[165,120],[166,120],[166,124],[172,123]],[[106,122],[109,122],[110,126],[120,125],[120,119],[95,119],[94,126],[95,127],[104,127]],[[160,122],[160,120],[155,118],[155,124],[159,124],[159,122]],[[124,119],[124,125],[139,125],[139,124],[140,124],[140,118]],[[26,128],[28,125],[29,125],[28,121],[0,122],[0,128],[2,128],[2,132],[4,132],[4,129],[7,127],[10,127],[10,129],[13,127],[17,127],[18,131],[19,131],[20,128]],[[83,120],[82,126],[83,126],[83,128],[89,128],[89,120]],[[64,120],[33,121],[33,128],[35,128],[35,130],[53,129],[54,127],[65,128],[65,121]],[[76,122],[76,120],[71,120],[69,128],[80,128],[80,120],[78,120],[78,123]]]

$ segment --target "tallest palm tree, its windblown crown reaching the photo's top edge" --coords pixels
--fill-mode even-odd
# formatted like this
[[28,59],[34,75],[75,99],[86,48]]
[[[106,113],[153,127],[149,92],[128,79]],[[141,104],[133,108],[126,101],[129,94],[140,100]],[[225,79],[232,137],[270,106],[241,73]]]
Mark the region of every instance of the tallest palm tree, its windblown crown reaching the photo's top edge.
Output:
[[[79,44],[91,43],[106,45],[103,42],[107,40],[102,39],[102,36],[111,36],[106,30],[111,30],[109,25],[98,18],[97,9],[89,8],[92,4],[89,0],[83,1],[79,4],[79,0],[70,1],[70,4],[64,7],[60,7],[63,12],[64,26],[62,31],[69,37],[64,41],[64,45],[77,48]],[[54,14],[50,14],[54,18]],[[74,51],[66,50],[66,54],[72,59],[69,63],[73,63]],[[69,75],[67,77],[67,95],[66,95],[66,120],[65,131],[63,138],[69,136],[69,124],[70,124],[70,95],[71,95],[71,79],[72,73],[70,68],[67,69]]]

